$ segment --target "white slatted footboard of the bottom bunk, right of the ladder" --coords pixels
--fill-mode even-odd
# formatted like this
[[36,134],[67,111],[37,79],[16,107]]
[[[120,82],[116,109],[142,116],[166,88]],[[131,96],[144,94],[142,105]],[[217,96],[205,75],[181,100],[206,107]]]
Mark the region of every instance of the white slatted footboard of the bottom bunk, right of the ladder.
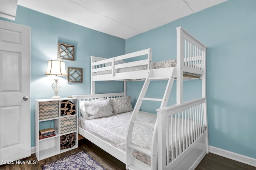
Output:
[[157,111],[158,169],[195,168],[208,153],[206,97]]

